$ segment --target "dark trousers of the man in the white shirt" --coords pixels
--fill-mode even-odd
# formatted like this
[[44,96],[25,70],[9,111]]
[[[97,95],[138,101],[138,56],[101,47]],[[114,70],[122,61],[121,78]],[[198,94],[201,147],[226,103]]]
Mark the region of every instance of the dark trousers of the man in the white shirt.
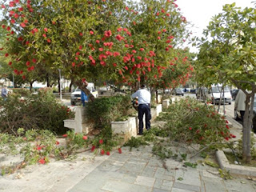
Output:
[[149,104],[140,104],[138,106],[138,133],[142,134],[143,133],[143,116],[145,114],[146,118],[146,130],[150,130],[150,119],[151,119],[151,114],[150,114],[150,105]]

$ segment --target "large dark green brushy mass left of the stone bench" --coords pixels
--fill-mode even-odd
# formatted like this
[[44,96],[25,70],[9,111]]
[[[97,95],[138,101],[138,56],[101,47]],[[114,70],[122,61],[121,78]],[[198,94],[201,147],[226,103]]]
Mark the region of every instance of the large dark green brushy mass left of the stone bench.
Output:
[[6,102],[0,101],[0,131],[17,134],[18,128],[25,130],[51,130],[56,134],[66,133],[63,120],[74,117],[67,106],[56,102],[52,90],[44,88],[38,94],[30,94],[21,100],[11,95]]

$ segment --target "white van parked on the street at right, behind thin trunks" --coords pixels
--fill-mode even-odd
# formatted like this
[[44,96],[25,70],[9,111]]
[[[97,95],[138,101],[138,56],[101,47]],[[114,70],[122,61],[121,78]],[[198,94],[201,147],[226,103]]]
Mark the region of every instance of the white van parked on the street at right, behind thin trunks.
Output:
[[210,98],[212,103],[218,104],[220,102],[221,95],[222,95],[221,104],[224,104],[225,102],[231,105],[232,96],[230,93],[230,88],[228,86],[224,87],[224,97],[223,97],[222,86],[211,86],[211,89],[208,91],[207,98]]

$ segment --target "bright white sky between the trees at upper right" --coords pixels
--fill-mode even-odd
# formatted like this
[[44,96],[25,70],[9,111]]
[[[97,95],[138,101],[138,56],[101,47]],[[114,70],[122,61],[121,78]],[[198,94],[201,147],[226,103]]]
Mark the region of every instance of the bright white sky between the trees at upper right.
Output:
[[[188,22],[194,24],[191,28],[192,36],[202,36],[202,31],[206,29],[211,18],[222,12],[225,4],[236,3],[241,8],[254,7],[256,0],[177,0],[177,4],[183,16]],[[192,52],[198,52],[195,47],[189,46]]]

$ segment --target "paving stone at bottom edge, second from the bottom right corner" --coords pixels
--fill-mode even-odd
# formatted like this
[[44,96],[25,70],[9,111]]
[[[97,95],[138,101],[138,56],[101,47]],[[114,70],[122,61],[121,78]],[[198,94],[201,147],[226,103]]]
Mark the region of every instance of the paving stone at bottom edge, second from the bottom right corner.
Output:
[[226,187],[222,180],[214,178],[202,178],[207,192],[226,192]]

